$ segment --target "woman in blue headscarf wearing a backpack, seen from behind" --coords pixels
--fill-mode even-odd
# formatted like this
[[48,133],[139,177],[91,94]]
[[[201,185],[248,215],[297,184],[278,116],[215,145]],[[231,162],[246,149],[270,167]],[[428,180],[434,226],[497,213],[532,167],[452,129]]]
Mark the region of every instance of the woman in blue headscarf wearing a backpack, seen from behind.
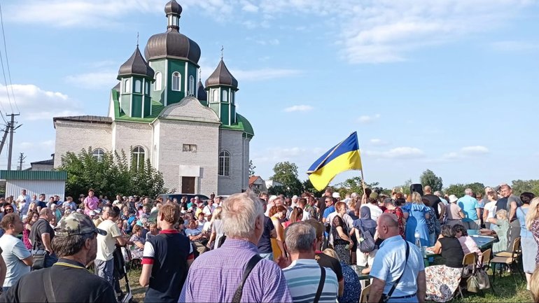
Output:
[[[353,228],[350,231],[350,234],[356,234],[356,239],[358,241],[361,241],[361,239],[365,239],[363,237],[363,234],[361,234],[361,230],[363,229],[364,232],[368,232],[372,239],[375,241],[374,251],[371,251],[370,253],[363,253],[359,250],[359,247],[356,251],[356,260],[357,265],[359,266],[367,266],[370,268],[372,266],[372,262],[374,261],[374,256],[376,255],[376,252],[378,251],[378,241],[377,241],[377,232],[376,232],[376,221],[372,220],[370,218],[370,209],[368,207],[361,207],[360,208],[360,218],[358,220],[353,220]],[[359,246],[359,245],[358,245]],[[370,272],[368,269],[363,269],[363,273],[367,274]]]

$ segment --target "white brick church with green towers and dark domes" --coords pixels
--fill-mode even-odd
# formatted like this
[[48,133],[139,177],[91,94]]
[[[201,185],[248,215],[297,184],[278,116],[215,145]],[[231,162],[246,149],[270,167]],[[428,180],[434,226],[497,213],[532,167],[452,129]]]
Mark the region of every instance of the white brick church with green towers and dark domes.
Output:
[[[238,81],[223,57],[202,85],[200,47],[180,33],[182,8],[165,5],[167,31],[135,48],[120,66],[107,116],[53,118],[54,166],[62,155],[92,147],[94,157],[124,150],[150,160],[178,193],[230,195],[248,188],[253,127],[236,112]],[[125,193],[129,194],[129,193]]]

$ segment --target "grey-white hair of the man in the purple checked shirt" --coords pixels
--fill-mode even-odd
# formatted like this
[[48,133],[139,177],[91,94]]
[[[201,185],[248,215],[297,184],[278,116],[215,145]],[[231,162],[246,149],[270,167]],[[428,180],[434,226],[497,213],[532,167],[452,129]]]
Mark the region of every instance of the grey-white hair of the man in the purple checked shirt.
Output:
[[223,231],[227,237],[247,239],[255,232],[255,222],[264,216],[262,203],[246,192],[234,194],[221,204]]

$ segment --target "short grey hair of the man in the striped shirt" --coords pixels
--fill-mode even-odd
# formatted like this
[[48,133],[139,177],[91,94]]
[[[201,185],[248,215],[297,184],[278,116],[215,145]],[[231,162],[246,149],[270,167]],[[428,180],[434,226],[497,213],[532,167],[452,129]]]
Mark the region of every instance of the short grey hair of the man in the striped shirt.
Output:
[[284,238],[290,253],[308,252],[314,249],[316,230],[309,223],[296,222],[286,227]]

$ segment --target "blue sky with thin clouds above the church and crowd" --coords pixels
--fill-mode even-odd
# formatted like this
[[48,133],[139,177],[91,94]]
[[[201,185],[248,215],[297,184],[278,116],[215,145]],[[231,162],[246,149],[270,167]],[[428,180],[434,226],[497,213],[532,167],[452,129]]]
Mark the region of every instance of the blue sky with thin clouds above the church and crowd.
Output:
[[[106,115],[137,31],[144,52],[167,26],[167,1],[64,2],[1,7],[11,106],[22,124],[13,162],[25,153],[23,167],[54,152],[52,117]],[[202,49],[203,79],[224,45],[239,80],[238,112],[255,129],[251,159],[262,178],[281,161],[295,162],[306,178],[309,165],[353,131],[366,181],[387,188],[419,181],[425,169],[446,186],[537,178],[536,0],[179,3],[180,31]],[[7,149],[0,168],[6,163]]]

